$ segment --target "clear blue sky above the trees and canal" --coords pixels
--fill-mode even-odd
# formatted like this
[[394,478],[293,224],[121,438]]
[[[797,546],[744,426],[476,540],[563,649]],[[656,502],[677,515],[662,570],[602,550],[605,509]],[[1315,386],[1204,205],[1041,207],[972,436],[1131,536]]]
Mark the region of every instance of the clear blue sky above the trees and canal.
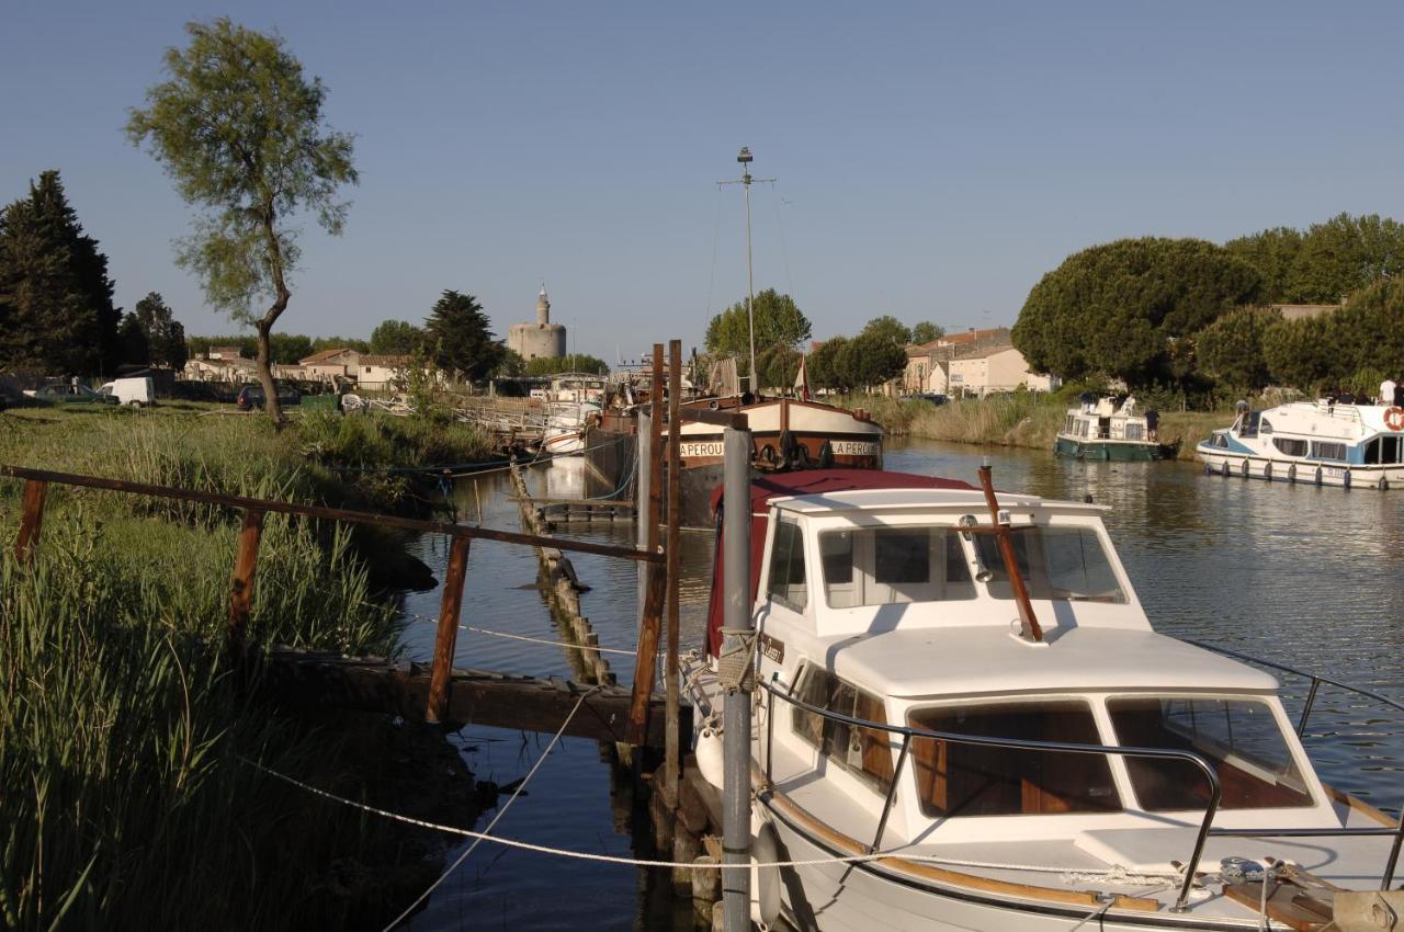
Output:
[[[176,268],[191,212],[122,125],[183,24],[277,28],[357,133],[345,234],[306,225],[284,330],[366,335],[542,281],[573,348],[699,345],[755,285],[814,335],[892,313],[1008,324],[1068,253],[1404,218],[1404,6],[1390,3],[205,3],[6,0],[0,199],[63,173],[118,303],[234,327]],[[715,261],[713,261],[715,255]]]

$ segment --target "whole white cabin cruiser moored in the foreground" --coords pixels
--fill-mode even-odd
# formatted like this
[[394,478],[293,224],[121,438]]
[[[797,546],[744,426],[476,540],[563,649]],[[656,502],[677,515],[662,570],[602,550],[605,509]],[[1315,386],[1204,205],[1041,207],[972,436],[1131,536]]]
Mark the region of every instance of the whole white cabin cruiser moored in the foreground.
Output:
[[[1151,629],[1102,507],[878,470],[751,495],[753,835],[804,862],[757,869],[757,918],[1375,928],[1328,924],[1396,887],[1404,825],[1316,776],[1310,700],[1296,726],[1272,675]],[[727,665],[688,671],[699,721]]]

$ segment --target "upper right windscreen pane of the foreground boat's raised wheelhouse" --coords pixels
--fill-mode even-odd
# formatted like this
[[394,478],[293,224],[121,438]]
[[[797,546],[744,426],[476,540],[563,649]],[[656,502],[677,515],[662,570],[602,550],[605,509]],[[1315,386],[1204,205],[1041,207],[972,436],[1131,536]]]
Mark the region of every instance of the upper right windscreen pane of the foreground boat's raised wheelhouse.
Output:
[[[1032,598],[1118,605],[1126,602],[1106,550],[1091,528],[1029,528],[1015,531],[1011,536],[1019,575]],[[981,563],[993,574],[990,595],[997,599],[1014,598],[998,538],[981,533],[974,542]]]

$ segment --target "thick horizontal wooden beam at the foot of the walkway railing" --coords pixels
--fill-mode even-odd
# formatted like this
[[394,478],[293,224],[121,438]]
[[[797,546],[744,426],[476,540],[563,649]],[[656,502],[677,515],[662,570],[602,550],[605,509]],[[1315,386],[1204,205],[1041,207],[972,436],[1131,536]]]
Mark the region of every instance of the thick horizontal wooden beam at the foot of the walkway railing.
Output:
[[[382,658],[341,657],[324,651],[275,650],[268,655],[257,682],[263,695],[284,705],[323,706],[383,712],[418,717],[430,692],[425,664]],[[570,684],[557,688],[550,681],[491,671],[453,670],[448,682],[444,723],[484,724],[553,734],[591,686]],[[646,728],[639,741],[628,731],[630,692],[602,686],[590,692],[564,734],[597,741],[663,747],[664,703],[646,706]],[[692,709],[682,706],[682,727],[691,730]]]

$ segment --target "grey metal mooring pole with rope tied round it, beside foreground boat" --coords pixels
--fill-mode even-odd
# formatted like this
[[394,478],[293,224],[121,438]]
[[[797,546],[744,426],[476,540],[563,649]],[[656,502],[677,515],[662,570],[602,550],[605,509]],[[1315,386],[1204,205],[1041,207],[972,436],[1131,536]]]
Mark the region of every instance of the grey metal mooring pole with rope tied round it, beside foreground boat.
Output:
[[[751,432],[726,428],[726,487],[722,578],[726,602],[722,622],[731,630],[751,627]],[[723,643],[724,651],[727,644]],[[751,928],[751,693],[730,689],[723,700],[722,727],[722,928]]]

